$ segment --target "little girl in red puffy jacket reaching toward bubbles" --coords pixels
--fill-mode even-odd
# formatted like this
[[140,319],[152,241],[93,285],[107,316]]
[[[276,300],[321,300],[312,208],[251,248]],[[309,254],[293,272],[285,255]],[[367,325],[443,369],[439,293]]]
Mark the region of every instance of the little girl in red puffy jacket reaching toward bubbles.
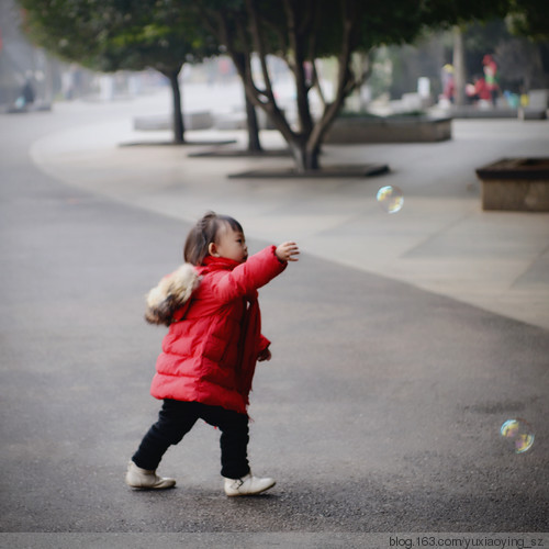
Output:
[[256,361],[271,358],[270,341],[260,333],[257,289],[298,254],[298,245],[287,242],[248,257],[240,224],[213,212],[191,229],[186,264],[147,295],[147,322],[169,326],[150,388],[164,405],[130,461],[130,486],[173,486],[175,479],[158,477],[156,469],[199,418],[221,430],[226,495],[258,494],[274,485],[254,477],[247,459],[246,408]]

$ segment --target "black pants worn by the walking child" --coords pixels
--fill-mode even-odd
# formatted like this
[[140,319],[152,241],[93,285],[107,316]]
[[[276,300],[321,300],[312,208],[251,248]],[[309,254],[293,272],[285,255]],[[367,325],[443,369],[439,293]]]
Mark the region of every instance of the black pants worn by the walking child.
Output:
[[201,418],[221,430],[221,474],[240,479],[249,472],[248,416],[221,406],[166,399],[156,422],[143,438],[132,460],[142,469],[154,470],[171,445],[177,445]]

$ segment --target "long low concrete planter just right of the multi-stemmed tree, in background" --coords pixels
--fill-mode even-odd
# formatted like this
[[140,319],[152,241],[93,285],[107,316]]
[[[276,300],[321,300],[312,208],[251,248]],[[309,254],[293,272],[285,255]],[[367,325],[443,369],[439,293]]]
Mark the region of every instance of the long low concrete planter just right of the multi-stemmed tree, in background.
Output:
[[422,143],[451,139],[451,119],[428,116],[341,116],[325,143]]

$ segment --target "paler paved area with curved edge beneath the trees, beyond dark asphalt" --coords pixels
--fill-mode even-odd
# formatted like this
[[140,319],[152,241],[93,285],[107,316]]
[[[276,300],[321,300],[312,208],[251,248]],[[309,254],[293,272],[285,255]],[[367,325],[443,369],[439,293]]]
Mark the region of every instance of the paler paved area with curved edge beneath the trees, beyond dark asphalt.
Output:
[[[191,100],[192,105],[192,100]],[[58,110],[78,105],[58,105]],[[329,164],[386,163],[370,179],[227,179],[228,173],[291,166],[283,158],[189,158],[205,146],[119,147],[168,141],[169,133],[132,130],[138,113],[158,113],[142,99],[117,116],[38,139],[34,161],[67,183],[193,221],[206,210],[242,221],[266,240],[295,239],[302,249],[340,265],[382,274],[549,329],[549,213],[483,212],[474,169],[508,156],[546,156],[549,123],[453,121],[453,139],[436,144],[326,146]],[[187,138],[243,132],[188,132]],[[283,147],[276,132],[264,147]],[[399,186],[404,206],[384,213],[377,190]]]

